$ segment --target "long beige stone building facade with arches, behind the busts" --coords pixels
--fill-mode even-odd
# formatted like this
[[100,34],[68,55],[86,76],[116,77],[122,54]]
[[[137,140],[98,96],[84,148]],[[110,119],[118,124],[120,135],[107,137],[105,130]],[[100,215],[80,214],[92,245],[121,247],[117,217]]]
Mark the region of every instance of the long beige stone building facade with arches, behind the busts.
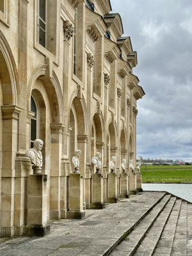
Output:
[[[82,211],[93,203],[96,152],[102,202],[108,202],[112,156],[115,197],[141,189],[140,173],[128,166],[136,165],[136,102],[145,93],[132,74],[137,53],[123,33],[109,0],[0,0],[2,237],[67,218],[77,149]],[[26,156],[36,138],[44,141],[39,180]]]

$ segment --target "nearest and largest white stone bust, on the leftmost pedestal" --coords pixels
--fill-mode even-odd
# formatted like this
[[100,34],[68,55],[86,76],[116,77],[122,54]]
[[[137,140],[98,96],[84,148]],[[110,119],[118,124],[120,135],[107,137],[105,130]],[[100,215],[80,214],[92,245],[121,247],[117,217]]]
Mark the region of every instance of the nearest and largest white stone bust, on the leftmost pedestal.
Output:
[[44,146],[44,141],[35,140],[33,142],[33,148],[30,148],[26,151],[26,156],[29,157],[31,163],[35,167],[35,174],[42,174],[42,165],[43,165],[43,156],[42,156],[42,147]]

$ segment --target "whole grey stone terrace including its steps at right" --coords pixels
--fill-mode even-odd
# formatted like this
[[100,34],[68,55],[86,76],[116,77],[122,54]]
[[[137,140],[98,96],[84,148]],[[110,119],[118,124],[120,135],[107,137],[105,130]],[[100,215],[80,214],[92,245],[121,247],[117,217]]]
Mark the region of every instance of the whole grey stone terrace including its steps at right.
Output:
[[192,204],[164,192],[143,192],[86,210],[84,220],[51,223],[45,237],[0,239],[0,255],[192,255]]

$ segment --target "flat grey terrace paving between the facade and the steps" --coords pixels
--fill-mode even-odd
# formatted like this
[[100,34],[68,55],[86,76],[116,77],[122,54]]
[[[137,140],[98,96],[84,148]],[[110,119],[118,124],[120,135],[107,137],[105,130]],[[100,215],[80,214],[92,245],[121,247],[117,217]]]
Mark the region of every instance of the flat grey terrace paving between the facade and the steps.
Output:
[[[165,193],[143,192],[107,205],[102,210],[86,210],[84,220],[59,220],[51,223],[45,237],[0,238],[1,256],[99,256],[108,255]],[[2,243],[1,243],[2,242]]]

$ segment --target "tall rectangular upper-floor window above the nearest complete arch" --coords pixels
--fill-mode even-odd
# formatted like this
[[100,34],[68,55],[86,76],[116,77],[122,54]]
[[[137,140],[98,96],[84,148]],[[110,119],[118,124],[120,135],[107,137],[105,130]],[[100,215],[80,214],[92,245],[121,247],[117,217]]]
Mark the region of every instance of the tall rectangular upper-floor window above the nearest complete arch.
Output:
[[47,0],[37,0],[37,33],[38,43],[47,47]]

